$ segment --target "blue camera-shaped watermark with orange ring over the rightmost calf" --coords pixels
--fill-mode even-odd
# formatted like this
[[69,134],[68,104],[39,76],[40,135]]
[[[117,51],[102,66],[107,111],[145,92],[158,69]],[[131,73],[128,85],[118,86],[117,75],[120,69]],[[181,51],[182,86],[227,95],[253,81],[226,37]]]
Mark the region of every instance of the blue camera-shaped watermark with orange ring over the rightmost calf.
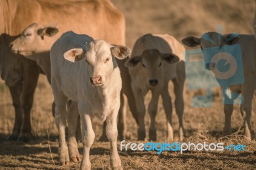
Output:
[[[225,43],[237,36],[234,33]],[[242,95],[233,93],[228,88],[244,83],[241,45],[223,45],[220,38],[218,43],[204,34],[202,39],[212,43],[214,47],[186,50],[188,89],[205,89],[204,96],[193,98],[193,107],[212,107],[212,88],[218,86],[223,89],[223,104],[243,104]]]

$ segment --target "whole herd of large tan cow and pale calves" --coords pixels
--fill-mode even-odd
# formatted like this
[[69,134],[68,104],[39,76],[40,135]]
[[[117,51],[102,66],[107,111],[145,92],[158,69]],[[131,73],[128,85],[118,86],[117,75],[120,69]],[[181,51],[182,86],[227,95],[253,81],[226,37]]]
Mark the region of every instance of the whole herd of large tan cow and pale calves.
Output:
[[[90,169],[89,153],[95,139],[92,118],[97,115],[104,121],[104,131],[106,129],[106,137],[111,144],[111,167],[122,169],[116,140],[117,137],[125,138],[127,104],[138,123],[138,140],[144,140],[144,97],[149,90],[152,92],[148,104],[151,120],[149,139],[156,140],[155,120],[161,95],[167,121],[166,139],[172,141],[170,80],[174,87],[179,139],[182,141],[185,48],[173,36],[141,36],[131,52],[124,46],[124,15],[109,0],[77,0],[76,3],[71,0],[3,0],[0,1],[0,23],[1,79],[10,89],[15,108],[15,125],[10,140],[26,141],[31,137],[33,94],[38,75],[44,73],[54,95],[52,112],[60,135],[61,165],[81,160],[76,141],[80,116],[84,148],[81,169]],[[250,117],[256,87],[255,37],[239,35],[230,39],[230,35],[214,32],[205,35],[216,43],[193,36],[184,38],[182,43],[188,47],[199,45],[205,57],[205,48],[241,45],[245,81],[228,88],[244,97],[240,107],[244,132],[248,139],[252,139]],[[216,63],[207,62],[206,67],[216,66]],[[224,135],[231,134],[232,111],[232,103],[225,104]],[[68,144],[65,141],[67,126]]]

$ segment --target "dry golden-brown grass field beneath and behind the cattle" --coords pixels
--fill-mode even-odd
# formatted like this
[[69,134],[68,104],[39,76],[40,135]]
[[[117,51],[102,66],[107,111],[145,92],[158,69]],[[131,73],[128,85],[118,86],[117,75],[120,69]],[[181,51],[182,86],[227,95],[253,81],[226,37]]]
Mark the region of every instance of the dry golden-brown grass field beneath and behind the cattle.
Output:
[[[181,41],[186,36],[201,36],[207,31],[217,31],[221,25],[222,33],[253,34],[253,17],[255,1],[225,0],[112,0],[126,18],[127,46],[132,48],[136,39],[146,33],[168,33]],[[243,118],[236,105],[232,115],[232,132],[222,137],[224,125],[223,105],[220,88],[213,89],[214,103],[211,108],[191,107],[191,99],[205,91],[186,89],[184,91],[184,142],[244,144],[246,151],[120,151],[124,169],[256,169],[256,141],[243,137]],[[170,94],[173,99],[172,83]],[[150,93],[146,96],[146,104]],[[4,81],[0,81],[0,169],[78,169],[79,164],[70,163],[68,167],[58,164],[58,130],[51,113],[53,101],[51,87],[44,75],[40,75],[31,112],[33,140],[30,143],[6,141],[12,132],[14,109],[12,99]],[[173,100],[174,101],[174,100]],[[253,99],[252,129],[256,132],[256,107]],[[137,127],[131,112],[128,114],[128,133],[131,138],[126,142],[138,143]],[[93,120],[95,143],[91,150],[93,169],[110,169],[109,143],[100,143],[102,123]],[[146,116],[148,129],[149,116]],[[173,127],[175,139],[178,139],[178,118],[173,110]],[[166,137],[166,120],[161,100],[156,118],[157,142],[163,143]],[[120,143],[118,143],[120,148]],[[79,152],[83,146],[79,143]]]

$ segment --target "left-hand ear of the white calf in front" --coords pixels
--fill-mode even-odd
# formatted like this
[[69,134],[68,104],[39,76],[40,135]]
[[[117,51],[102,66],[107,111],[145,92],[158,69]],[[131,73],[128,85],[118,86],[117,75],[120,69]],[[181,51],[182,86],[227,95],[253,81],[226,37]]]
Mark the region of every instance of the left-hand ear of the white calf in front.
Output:
[[64,53],[64,58],[71,62],[80,61],[84,58],[84,50],[83,49],[71,49]]

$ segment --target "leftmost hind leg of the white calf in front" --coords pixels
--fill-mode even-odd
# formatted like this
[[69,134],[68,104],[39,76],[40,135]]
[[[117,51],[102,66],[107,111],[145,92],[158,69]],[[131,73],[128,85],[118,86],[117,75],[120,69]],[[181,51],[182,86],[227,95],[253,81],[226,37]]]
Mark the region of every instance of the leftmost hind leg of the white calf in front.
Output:
[[69,164],[68,147],[65,139],[68,112],[66,109],[68,98],[60,91],[55,81],[52,81],[52,92],[55,101],[55,123],[59,131],[59,158],[61,166]]

